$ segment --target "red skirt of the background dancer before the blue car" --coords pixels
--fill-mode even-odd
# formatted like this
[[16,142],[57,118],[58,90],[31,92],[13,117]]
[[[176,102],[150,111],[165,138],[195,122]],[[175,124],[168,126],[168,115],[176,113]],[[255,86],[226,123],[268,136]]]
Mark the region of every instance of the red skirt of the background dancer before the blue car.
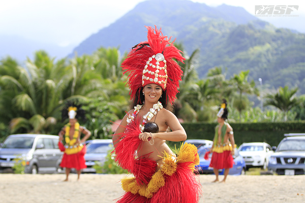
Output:
[[231,151],[224,151],[223,153],[213,152],[209,166],[217,169],[231,168],[233,167],[233,162]]

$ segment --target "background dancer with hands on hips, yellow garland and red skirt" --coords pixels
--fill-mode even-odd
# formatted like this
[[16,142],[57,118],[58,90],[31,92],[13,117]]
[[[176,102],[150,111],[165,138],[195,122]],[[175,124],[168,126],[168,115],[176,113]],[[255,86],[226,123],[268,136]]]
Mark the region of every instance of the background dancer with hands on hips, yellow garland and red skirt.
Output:
[[[84,155],[86,153],[86,146],[83,145],[91,135],[91,132],[85,127],[80,126],[77,122],[77,118],[84,119],[85,111],[81,109],[81,105],[75,105],[74,103],[68,103],[62,111],[63,121],[69,118],[67,123],[62,130],[59,131],[59,149],[64,153],[62,163],[60,166],[66,168],[66,180],[71,171],[71,168],[75,168],[77,172],[77,180],[82,168],[86,168]],[[83,139],[80,140],[81,133],[84,134]],[[64,137],[65,136],[65,137]],[[65,145],[63,144],[65,142]]]

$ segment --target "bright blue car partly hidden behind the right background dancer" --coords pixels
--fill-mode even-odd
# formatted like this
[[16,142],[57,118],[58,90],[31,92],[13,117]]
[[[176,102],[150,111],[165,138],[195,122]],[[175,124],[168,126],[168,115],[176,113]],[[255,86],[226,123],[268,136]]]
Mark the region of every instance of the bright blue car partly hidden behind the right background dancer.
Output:
[[[209,153],[208,160],[204,159],[204,155],[206,152],[210,150],[211,147],[201,147],[198,149],[199,154],[199,165],[196,165],[199,174],[214,174],[213,168],[209,167],[212,153]],[[235,154],[233,155],[234,164],[233,167],[230,168],[229,175],[245,175],[246,172],[246,163],[245,160],[243,160],[242,156],[239,155],[238,149],[235,148]],[[224,169],[219,170],[219,174],[224,174]]]

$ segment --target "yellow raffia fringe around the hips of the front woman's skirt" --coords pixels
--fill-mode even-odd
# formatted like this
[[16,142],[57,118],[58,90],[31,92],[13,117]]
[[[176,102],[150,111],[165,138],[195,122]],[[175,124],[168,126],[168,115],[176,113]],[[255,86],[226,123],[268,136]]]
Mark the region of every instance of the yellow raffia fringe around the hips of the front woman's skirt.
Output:
[[176,172],[177,164],[184,162],[191,162],[189,165],[190,171],[195,170],[195,165],[199,164],[199,155],[197,153],[197,147],[192,144],[181,144],[180,149],[175,150],[177,157],[174,157],[168,153],[165,153],[162,157],[163,165],[160,170],[151,177],[148,185],[138,185],[135,178],[124,178],[121,180],[122,188],[126,192],[133,194],[139,194],[147,198],[153,197],[161,187],[165,185],[164,174],[172,176]]

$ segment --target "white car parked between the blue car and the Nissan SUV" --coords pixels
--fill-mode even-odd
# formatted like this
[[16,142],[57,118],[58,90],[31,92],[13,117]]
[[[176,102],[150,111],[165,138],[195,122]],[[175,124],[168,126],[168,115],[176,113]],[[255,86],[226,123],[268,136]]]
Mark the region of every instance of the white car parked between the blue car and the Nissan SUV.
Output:
[[261,167],[263,170],[267,169],[269,157],[273,153],[272,147],[267,143],[243,143],[238,151],[246,161],[247,169]]

